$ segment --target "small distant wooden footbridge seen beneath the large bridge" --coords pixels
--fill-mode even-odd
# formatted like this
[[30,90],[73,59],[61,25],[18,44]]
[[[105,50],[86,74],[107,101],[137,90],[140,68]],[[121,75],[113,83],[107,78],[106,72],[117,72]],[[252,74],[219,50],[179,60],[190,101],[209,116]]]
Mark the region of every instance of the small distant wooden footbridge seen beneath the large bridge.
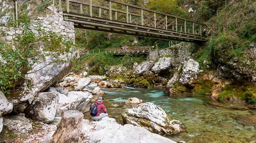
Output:
[[105,53],[113,53],[114,55],[125,55],[125,54],[148,54],[152,49],[152,46],[142,47],[123,47],[123,48],[107,48]]

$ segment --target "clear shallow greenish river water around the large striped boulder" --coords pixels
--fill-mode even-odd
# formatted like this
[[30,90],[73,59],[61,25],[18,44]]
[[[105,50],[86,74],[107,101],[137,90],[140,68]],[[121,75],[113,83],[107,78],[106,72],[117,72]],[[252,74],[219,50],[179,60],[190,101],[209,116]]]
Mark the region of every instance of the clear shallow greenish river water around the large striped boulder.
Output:
[[[256,143],[254,126],[243,126],[237,116],[250,114],[250,110],[233,110],[208,105],[208,96],[166,96],[155,89],[106,89],[104,104],[110,117],[122,123],[121,114],[132,106],[124,105],[129,97],[160,106],[172,118],[183,122],[188,133],[167,136],[174,141],[187,143]],[[120,105],[114,108],[113,105]]]

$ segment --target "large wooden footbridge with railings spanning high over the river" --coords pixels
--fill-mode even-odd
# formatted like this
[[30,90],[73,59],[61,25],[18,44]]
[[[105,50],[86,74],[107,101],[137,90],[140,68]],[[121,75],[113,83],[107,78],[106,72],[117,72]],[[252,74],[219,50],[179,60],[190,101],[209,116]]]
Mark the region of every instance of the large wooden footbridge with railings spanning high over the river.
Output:
[[105,0],[59,0],[64,20],[75,27],[141,37],[186,42],[206,41],[206,25],[127,3]]

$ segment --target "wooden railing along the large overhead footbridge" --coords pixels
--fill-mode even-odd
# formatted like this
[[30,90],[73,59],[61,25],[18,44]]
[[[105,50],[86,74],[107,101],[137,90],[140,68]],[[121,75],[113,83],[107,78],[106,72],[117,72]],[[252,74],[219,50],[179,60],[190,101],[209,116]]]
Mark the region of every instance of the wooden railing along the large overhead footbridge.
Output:
[[84,14],[90,17],[126,22],[149,29],[161,29],[194,37],[205,36],[203,33],[206,29],[205,24],[115,0],[104,1],[103,3],[96,3],[93,0],[59,0],[62,3],[60,8],[68,13]]

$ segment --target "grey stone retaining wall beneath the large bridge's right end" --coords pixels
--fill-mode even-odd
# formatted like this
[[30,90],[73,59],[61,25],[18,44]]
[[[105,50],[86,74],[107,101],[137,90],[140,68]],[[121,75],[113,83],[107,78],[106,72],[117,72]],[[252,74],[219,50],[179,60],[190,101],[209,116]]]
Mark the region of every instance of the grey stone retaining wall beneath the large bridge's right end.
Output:
[[180,44],[173,45],[168,49],[150,51],[148,54],[148,60],[157,60],[160,57],[169,56],[173,58],[172,61],[174,63],[179,63],[191,55],[190,49],[192,46],[194,46],[193,43],[182,42]]

